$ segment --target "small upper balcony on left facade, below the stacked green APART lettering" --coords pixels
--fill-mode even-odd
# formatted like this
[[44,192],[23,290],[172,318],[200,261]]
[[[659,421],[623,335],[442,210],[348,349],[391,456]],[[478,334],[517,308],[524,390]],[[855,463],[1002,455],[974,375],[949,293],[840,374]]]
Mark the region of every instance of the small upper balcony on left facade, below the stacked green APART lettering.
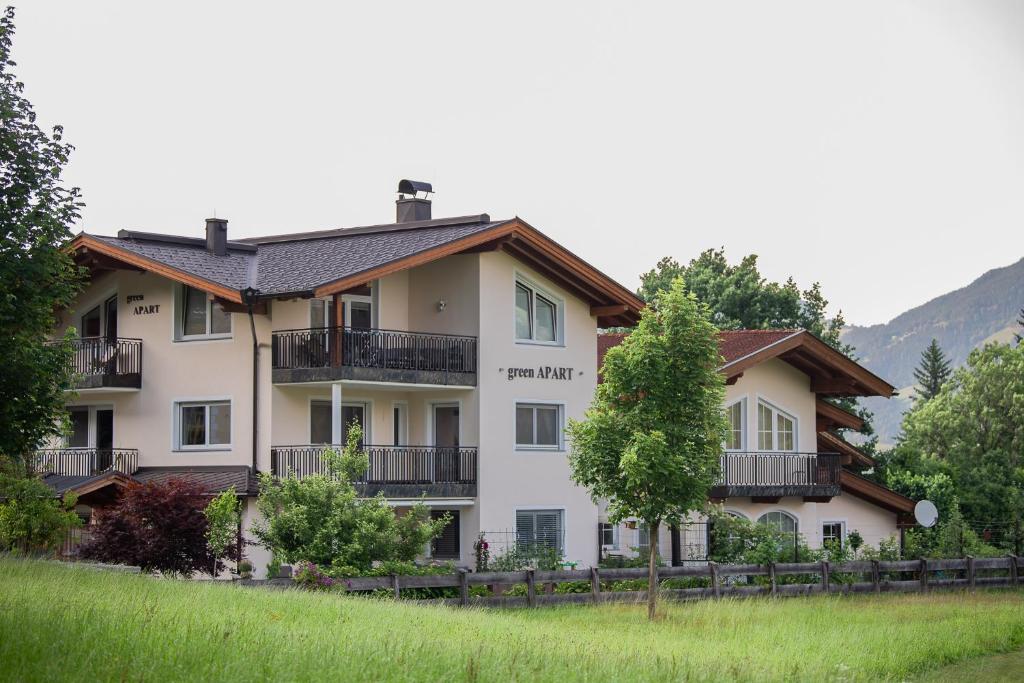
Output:
[[141,339],[80,337],[71,343],[75,389],[142,388]]

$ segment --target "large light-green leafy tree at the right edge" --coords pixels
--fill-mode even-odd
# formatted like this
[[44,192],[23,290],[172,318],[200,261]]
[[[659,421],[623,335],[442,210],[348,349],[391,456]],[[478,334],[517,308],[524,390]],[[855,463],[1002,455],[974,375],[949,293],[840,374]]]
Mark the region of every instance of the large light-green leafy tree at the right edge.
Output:
[[1024,510],[1024,345],[975,349],[903,420],[899,450],[953,480],[965,517],[1019,526]]

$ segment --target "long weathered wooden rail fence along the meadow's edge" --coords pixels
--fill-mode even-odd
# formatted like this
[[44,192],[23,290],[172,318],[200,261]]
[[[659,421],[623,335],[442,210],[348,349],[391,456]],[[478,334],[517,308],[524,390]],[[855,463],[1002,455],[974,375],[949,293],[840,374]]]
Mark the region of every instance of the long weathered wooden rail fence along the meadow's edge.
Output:
[[[829,563],[778,563],[778,564],[707,564],[696,566],[659,567],[658,580],[701,579],[707,586],[697,588],[663,588],[659,595],[670,600],[696,600],[726,596],[796,596],[816,593],[884,593],[928,592],[936,589],[1014,587],[1019,585],[1021,558],[966,557],[961,559],[930,560],[856,560]],[[751,581],[751,578],[761,578]],[[801,583],[788,583],[784,577],[797,577]],[[426,577],[364,577],[342,580],[339,584],[348,591],[386,590],[401,597],[406,589],[446,588],[458,589],[457,598],[434,598],[426,602],[453,605],[526,606],[588,603],[588,602],[641,602],[647,599],[646,591],[605,591],[602,584],[617,581],[646,580],[647,569],[623,568],[542,571],[466,571]],[[590,590],[574,593],[554,593],[558,584],[586,582]],[[705,583],[705,582],[701,582]],[[470,595],[471,586],[508,587],[524,584],[524,596]],[[579,590],[579,586],[575,587]]]

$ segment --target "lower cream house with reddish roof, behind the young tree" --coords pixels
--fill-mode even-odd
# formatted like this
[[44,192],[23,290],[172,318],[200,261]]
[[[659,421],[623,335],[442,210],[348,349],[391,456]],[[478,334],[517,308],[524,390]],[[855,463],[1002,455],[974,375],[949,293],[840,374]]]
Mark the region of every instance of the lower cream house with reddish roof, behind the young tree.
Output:
[[[623,334],[601,335],[599,362]],[[812,548],[846,543],[856,529],[871,546],[913,524],[914,502],[857,474],[873,461],[836,433],[860,418],[828,398],[886,396],[893,387],[804,330],[722,332],[729,434],[721,481],[712,492],[726,512],[801,533]],[[601,518],[603,552],[648,544],[642,525]],[[703,520],[664,529],[667,560],[702,558]]]

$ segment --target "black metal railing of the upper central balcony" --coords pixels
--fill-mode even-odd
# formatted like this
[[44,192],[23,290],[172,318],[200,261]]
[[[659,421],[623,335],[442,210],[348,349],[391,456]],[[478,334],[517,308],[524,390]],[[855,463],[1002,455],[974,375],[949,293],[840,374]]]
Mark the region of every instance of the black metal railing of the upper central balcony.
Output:
[[319,328],[273,333],[274,370],[376,368],[435,373],[476,372],[476,337]]

